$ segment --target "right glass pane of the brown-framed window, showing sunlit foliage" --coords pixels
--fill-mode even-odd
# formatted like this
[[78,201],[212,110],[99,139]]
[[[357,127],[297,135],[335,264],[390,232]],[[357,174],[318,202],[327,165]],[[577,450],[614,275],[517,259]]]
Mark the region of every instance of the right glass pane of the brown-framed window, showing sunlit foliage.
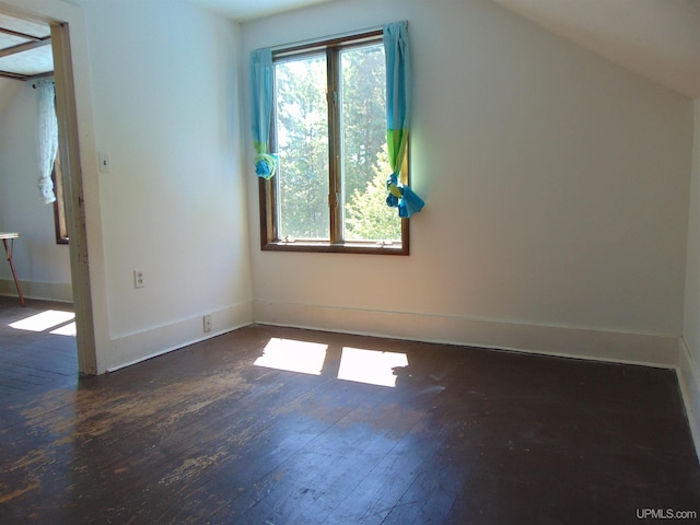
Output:
[[400,241],[401,221],[386,206],[392,170],[386,148],[384,46],[340,54],[342,178],[346,241]]

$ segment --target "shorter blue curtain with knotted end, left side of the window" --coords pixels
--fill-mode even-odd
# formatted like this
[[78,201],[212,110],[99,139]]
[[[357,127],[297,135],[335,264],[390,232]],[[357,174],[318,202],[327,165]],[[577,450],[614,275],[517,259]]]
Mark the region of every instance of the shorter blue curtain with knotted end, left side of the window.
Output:
[[250,54],[250,94],[253,145],[255,147],[255,173],[271,178],[277,171],[277,155],[269,149],[270,120],[272,118],[272,50],[258,49]]

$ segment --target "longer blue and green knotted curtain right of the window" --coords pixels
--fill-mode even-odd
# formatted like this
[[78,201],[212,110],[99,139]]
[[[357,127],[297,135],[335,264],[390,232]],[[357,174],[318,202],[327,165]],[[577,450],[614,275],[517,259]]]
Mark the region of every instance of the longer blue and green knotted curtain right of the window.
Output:
[[401,183],[401,165],[406,158],[411,116],[411,57],[408,46],[408,24],[396,22],[384,30],[386,56],[386,121],[392,175],[386,182],[389,195],[386,203],[398,208],[402,218],[418,213],[425,202],[408,185]]

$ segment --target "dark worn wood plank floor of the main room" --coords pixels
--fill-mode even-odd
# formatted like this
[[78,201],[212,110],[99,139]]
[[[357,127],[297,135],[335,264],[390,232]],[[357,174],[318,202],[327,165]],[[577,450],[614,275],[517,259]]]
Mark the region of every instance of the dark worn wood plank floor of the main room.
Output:
[[2,398],[0,466],[2,524],[700,513],[673,371],[256,325]]

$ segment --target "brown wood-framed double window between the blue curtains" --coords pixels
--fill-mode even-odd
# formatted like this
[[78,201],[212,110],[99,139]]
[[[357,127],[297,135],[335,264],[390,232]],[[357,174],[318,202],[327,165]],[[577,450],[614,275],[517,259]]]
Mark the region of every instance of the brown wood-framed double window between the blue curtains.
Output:
[[278,50],[273,65],[262,249],[408,255],[408,220],[386,205],[382,32]]

